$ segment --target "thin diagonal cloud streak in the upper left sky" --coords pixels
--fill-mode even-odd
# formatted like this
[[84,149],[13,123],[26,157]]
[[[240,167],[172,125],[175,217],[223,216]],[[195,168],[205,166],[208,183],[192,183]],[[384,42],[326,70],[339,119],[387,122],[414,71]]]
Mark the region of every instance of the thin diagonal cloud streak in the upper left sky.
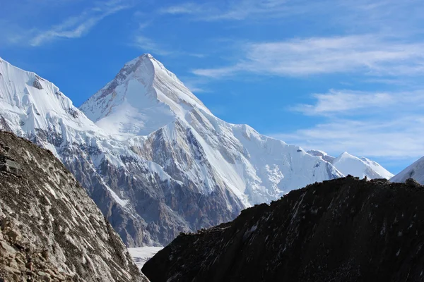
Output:
[[57,38],[78,38],[86,35],[100,20],[129,8],[123,1],[112,0],[84,10],[80,15],[64,20],[49,30],[38,32],[30,39],[30,45],[40,46]]

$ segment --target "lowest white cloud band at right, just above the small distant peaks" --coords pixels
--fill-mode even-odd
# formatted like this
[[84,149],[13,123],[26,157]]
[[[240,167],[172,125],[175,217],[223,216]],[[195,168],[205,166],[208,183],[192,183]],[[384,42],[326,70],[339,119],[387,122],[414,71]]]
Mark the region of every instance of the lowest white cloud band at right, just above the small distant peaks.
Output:
[[359,156],[409,159],[411,162],[424,155],[424,143],[418,138],[423,127],[423,115],[387,121],[338,119],[293,133],[270,135],[305,149],[322,149],[329,154],[348,151]]

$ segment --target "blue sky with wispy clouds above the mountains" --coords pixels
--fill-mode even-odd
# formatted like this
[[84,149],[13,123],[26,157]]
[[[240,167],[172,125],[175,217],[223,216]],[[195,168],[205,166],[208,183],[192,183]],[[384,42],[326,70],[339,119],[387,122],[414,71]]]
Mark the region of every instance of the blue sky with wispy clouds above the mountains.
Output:
[[422,0],[0,0],[0,56],[79,106],[151,53],[216,116],[397,173],[424,155]]

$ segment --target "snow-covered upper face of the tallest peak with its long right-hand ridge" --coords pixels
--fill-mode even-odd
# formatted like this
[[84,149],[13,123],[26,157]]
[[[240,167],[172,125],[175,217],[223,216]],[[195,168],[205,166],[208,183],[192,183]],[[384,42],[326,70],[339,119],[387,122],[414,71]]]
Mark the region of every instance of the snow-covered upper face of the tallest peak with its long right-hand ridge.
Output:
[[243,207],[341,176],[299,147],[216,118],[148,54],[126,63],[80,109],[173,179],[204,195],[225,188]]

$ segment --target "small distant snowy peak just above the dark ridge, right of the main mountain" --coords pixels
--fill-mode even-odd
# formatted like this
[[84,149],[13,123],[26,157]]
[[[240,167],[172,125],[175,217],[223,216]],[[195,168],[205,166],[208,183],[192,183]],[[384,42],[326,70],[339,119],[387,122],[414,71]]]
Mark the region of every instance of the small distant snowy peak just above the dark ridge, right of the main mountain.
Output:
[[330,164],[333,164],[334,167],[337,168],[338,171],[343,173],[343,175],[347,176],[351,174],[352,176],[358,176],[360,178],[391,178],[393,176],[392,173],[387,171],[381,165],[379,165],[376,161],[371,161],[365,157],[355,157],[348,152],[344,152],[338,157],[331,157],[326,152],[319,150],[310,150],[309,154],[316,157],[322,157],[325,161],[328,161]]

